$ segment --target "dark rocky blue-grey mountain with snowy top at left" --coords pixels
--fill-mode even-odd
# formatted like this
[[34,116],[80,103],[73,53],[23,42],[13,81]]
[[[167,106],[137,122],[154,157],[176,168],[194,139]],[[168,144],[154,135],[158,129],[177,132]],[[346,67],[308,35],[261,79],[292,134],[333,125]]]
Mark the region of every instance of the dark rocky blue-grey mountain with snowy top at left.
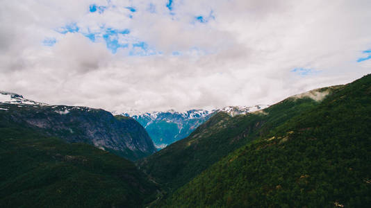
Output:
[[0,92],[0,119],[38,128],[68,142],[85,142],[128,159],[155,152],[140,123],[89,107],[47,105]]

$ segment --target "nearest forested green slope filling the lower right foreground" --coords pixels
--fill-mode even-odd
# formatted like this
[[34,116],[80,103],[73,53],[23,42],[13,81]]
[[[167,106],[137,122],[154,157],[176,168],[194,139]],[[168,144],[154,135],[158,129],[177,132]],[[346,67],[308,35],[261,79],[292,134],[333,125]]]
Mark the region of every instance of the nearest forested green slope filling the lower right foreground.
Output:
[[327,96],[160,207],[371,207],[371,76]]

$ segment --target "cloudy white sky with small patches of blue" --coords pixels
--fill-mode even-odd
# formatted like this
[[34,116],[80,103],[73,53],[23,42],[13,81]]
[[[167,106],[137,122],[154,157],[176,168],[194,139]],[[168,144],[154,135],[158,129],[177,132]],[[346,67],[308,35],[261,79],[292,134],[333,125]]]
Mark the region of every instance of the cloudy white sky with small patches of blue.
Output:
[[274,104],[371,72],[371,1],[3,1],[0,90],[108,111]]

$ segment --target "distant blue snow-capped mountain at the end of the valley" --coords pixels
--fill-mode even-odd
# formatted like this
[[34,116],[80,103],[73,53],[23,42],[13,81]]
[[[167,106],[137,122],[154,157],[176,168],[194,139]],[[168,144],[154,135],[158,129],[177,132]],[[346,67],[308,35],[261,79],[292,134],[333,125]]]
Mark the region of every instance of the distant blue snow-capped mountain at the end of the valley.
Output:
[[[214,110],[188,110],[186,112],[176,112],[174,110],[140,112],[138,110],[129,110],[122,113],[122,115],[130,116],[142,124],[154,141],[156,148],[161,149],[179,139],[188,137],[193,130],[217,112],[226,112],[231,116],[237,116],[262,110],[268,106],[228,106]],[[113,114],[118,113],[113,112]]]

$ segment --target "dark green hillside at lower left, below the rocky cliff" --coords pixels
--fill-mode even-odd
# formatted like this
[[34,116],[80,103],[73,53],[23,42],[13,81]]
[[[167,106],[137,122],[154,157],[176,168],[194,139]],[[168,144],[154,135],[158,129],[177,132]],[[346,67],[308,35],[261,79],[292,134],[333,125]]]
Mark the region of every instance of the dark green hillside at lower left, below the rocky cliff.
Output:
[[132,162],[0,120],[1,207],[141,207],[156,187]]

